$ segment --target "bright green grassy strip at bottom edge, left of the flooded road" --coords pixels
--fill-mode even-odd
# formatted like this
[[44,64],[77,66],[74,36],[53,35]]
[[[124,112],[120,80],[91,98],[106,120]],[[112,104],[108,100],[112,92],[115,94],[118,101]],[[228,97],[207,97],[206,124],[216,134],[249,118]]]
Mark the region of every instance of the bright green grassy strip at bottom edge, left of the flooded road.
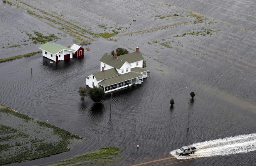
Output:
[[107,165],[121,158],[122,149],[115,146],[101,148],[91,153],[81,154],[73,158],[65,159],[57,163],[49,163],[47,166],[80,166],[80,165]]

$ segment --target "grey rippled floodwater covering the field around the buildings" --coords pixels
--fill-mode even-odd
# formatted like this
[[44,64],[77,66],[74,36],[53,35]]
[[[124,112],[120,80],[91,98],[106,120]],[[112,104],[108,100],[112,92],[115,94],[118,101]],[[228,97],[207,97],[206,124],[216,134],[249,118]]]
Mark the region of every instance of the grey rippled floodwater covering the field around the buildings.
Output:
[[[4,30],[0,43],[5,47],[8,42],[15,45],[17,38],[28,40],[25,31],[29,29],[29,33],[53,33],[61,38],[58,43],[71,45],[76,37],[61,28],[64,22],[69,27],[83,27],[83,33],[76,27],[74,34],[91,41],[91,51],[86,51],[83,59],[73,58],[56,65],[39,53],[0,64],[0,103],[87,139],[69,152],[12,165],[58,161],[105,146],[122,148],[121,160],[125,162],[118,165],[131,165],[170,157],[170,151],[180,146],[255,133],[253,1],[198,0],[193,5],[173,0],[113,1],[115,8],[105,1],[12,2],[12,6],[0,4],[1,19],[5,18],[0,26]],[[239,10],[241,3],[247,10]],[[68,10],[70,6],[72,9]],[[216,8],[218,14],[214,12]],[[27,13],[28,10],[36,15]],[[13,19],[28,20],[27,24],[11,23],[4,17],[6,12]],[[108,39],[96,35],[113,30],[118,34]],[[3,48],[0,58],[37,51],[39,45],[29,41],[21,48]],[[105,52],[117,47],[132,52],[136,46],[147,60],[150,77],[136,88],[113,94],[111,118],[109,96],[101,104],[94,104],[89,98],[80,99],[78,86],[85,86],[86,76],[99,71],[99,59]],[[187,130],[191,91],[196,95]],[[175,100],[174,108],[170,108],[171,98]],[[256,164],[254,153],[231,153],[177,164]]]

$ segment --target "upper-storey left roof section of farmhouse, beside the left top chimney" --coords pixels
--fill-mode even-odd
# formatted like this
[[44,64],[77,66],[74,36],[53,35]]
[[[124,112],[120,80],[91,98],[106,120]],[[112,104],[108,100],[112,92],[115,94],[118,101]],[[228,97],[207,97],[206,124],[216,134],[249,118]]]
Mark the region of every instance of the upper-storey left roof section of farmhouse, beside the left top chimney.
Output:
[[112,66],[114,68],[118,68],[118,69],[120,69],[123,66],[123,64],[125,63],[125,61],[120,59],[119,56],[117,58],[114,58],[113,55],[108,54],[108,53],[105,53],[99,61],[106,63],[109,66]]

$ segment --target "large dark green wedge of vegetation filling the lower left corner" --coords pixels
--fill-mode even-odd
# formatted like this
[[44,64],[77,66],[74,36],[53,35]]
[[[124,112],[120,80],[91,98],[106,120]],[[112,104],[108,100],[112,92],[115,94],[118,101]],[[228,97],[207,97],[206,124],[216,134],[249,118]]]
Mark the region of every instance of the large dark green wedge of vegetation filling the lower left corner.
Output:
[[[44,158],[69,151],[69,140],[83,139],[57,126],[18,113],[10,107],[0,108],[0,115],[11,117],[8,121],[3,119],[3,123],[12,125],[12,121],[15,121],[15,124],[19,126],[12,128],[0,124],[0,165]],[[34,129],[28,131],[29,134],[27,134],[25,132],[27,126],[31,125]],[[40,134],[40,139],[38,134]],[[50,140],[45,138],[50,138]],[[2,141],[9,141],[9,144],[3,144]]]

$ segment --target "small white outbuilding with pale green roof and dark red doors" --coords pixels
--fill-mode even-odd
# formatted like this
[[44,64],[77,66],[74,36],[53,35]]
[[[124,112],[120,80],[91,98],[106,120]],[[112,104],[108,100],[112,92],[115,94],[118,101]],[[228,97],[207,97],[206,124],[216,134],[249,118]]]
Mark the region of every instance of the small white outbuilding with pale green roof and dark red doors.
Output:
[[42,55],[53,61],[69,60],[73,57],[75,50],[64,45],[47,42],[39,47],[42,50]]

